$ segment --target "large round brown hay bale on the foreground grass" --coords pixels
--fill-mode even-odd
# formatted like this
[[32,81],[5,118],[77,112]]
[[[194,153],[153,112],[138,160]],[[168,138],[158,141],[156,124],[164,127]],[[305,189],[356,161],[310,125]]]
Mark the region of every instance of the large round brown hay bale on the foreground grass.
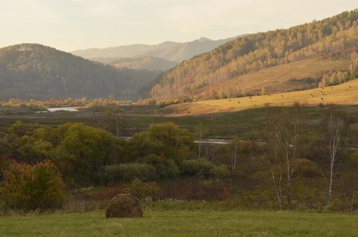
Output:
[[119,194],[112,198],[105,210],[105,217],[142,217],[143,210],[139,200],[130,194]]

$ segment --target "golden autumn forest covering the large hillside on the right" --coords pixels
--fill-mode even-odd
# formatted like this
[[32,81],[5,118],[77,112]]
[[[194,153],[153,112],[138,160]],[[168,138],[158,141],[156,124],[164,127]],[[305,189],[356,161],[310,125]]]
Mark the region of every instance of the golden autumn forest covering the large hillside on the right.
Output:
[[[207,90],[206,97],[235,97],[257,93],[262,88],[251,88],[236,82],[234,87],[222,86],[209,92],[210,85],[240,75],[278,65],[310,58],[347,60],[347,65],[337,71],[317,71],[312,82],[322,85],[336,84],[355,77],[358,65],[358,10],[313,21],[289,29],[259,32],[236,38],[210,52],[183,61],[176,68],[164,73],[151,94],[156,100],[196,97],[196,92]],[[310,64],[305,65],[309,68]],[[291,78],[310,81],[312,78]],[[307,80],[308,79],[308,80]],[[259,78],[265,80],[265,78]],[[276,78],[280,81],[280,78]],[[270,88],[265,88],[270,90]],[[299,89],[299,88],[297,88]],[[281,88],[281,92],[291,90]],[[197,97],[198,98],[198,97]]]

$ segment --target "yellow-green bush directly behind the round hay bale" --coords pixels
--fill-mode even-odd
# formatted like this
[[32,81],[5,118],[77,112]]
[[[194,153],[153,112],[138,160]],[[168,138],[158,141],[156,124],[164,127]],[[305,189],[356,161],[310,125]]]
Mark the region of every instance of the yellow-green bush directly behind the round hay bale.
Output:
[[132,194],[138,199],[150,198],[152,200],[159,199],[160,188],[155,182],[142,182],[139,179],[134,179],[129,184],[125,185],[124,191]]

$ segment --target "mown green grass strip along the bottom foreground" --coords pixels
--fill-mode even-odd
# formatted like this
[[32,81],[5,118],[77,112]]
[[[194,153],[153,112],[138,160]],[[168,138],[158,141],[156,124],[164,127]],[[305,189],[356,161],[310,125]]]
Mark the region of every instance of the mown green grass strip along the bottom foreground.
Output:
[[0,236],[357,236],[358,216],[286,212],[145,212],[0,217]]

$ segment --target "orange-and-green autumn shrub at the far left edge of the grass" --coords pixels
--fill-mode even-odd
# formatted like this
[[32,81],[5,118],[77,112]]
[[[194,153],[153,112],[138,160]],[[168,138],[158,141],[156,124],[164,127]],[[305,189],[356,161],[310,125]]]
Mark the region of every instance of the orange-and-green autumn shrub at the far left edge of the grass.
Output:
[[51,161],[36,165],[14,162],[3,171],[0,196],[10,208],[46,209],[60,203],[64,188],[61,173]]

